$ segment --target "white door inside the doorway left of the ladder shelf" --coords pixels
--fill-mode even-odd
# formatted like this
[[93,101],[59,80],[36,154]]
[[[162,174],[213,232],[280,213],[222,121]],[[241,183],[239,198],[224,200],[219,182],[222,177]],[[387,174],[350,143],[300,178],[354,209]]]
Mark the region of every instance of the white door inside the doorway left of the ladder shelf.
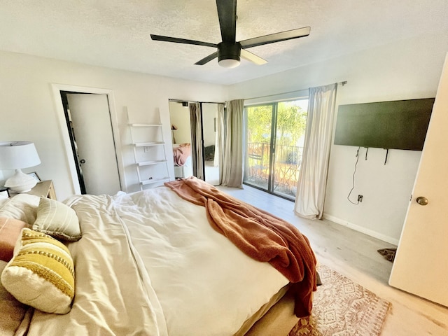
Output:
[[114,195],[120,190],[111,115],[106,94],[67,94],[85,191]]

